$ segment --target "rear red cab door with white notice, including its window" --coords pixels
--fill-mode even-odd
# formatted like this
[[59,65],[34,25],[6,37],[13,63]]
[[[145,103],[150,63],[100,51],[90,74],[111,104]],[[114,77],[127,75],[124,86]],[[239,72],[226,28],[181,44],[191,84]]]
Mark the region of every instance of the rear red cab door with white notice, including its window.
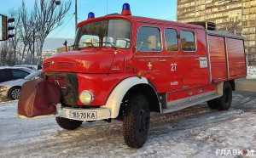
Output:
[[205,33],[189,28],[181,28],[179,33],[183,88],[209,84]]

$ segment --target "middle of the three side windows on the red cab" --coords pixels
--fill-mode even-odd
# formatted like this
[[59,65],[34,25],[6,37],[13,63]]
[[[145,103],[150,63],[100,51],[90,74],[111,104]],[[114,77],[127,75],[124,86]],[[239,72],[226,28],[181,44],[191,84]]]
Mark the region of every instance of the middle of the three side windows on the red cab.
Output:
[[177,31],[175,29],[166,29],[165,31],[166,37],[166,49],[167,51],[177,51]]

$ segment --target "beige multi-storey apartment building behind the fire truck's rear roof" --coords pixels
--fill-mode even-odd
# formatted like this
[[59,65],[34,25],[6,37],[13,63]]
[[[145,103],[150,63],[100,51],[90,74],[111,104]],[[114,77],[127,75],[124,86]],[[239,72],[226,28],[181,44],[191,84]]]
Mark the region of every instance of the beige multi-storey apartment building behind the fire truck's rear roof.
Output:
[[218,31],[244,36],[247,53],[256,55],[256,0],[177,0],[177,21],[212,21]]

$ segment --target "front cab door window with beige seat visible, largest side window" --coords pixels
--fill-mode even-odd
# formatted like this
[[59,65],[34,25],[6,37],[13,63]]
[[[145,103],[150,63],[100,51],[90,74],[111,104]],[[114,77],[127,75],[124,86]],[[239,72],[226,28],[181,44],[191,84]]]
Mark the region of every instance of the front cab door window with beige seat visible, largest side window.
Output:
[[160,29],[150,26],[140,27],[137,31],[136,47],[140,52],[159,52],[162,48]]

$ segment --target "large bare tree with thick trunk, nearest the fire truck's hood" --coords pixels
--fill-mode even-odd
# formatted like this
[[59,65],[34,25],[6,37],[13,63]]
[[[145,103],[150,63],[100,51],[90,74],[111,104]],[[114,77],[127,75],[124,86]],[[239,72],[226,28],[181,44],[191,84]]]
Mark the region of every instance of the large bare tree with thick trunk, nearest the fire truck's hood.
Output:
[[38,29],[38,64],[42,62],[42,50],[45,38],[50,31],[63,24],[63,18],[71,6],[71,1],[61,2],[56,5],[54,0],[36,0],[32,16],[36,17]]

